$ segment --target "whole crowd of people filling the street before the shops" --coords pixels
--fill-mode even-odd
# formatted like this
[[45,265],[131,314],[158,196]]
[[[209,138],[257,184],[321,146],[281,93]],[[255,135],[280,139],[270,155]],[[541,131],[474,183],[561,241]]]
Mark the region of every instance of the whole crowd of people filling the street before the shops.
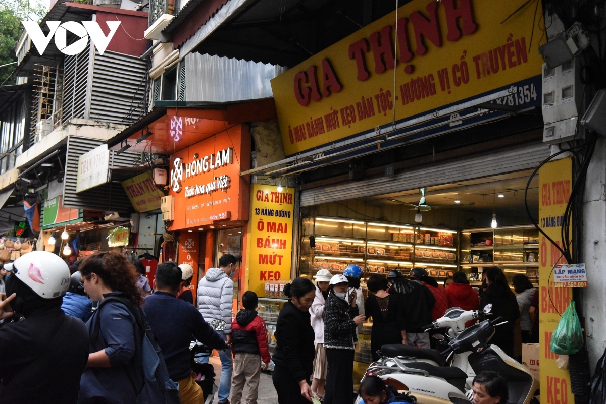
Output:
[[[142,265],[137,261],[118,252],[98,252],[68,269],[52,253],[31,252],[8,264],[12,275],[4,285],[8,297],[0,299],[0,320],[25,319],[0,327],[0,357],[6,364],[0,367],[0,404],[44,402],[50,396],[62,403],[136,402],[144,386],[141,340],[147,333],[153,333],[162,353],[159,358],[184,404],[201,403],[203,397],[198,375],[191,369],[189,347],[194,338],[219,352],[219,403],[229,403],[231,394],[231,403],[240,404],[246,393],[247,404],[256,404],[261,370],[273,360],[280,404],[301,404],[315,397],[327,404],[350,404],[358,328],[367,318],[373,322],[373,360],[379,359],[385,344],[428,348],[424,326],[450,307],[476,310],[491,304],[494,317],[508,322],[496,328],[491,344],[510,356],[516,319],[520,318],[524,342],[536,336],[538,293],[522,274],[513,278],[516,296],[496,267],[485,271],[487,287],[479,293],[464,272],[454,273],[443,287],[421,268],[413,269],[410,279],[391,270],[387,278],[374,274],[367,279],[370,293],[364,300],[361,269],[349,266],[347,276],[320,270],[316,285],[305,278],[285,285],[288,301],[278,316],[271,357],[254,292],[242,295],[242,309],[231,320],[234,256],[222,256],[219,268],[206,271],[198,285],[197,308],[189,288],[191,266],[160,264],[155,292],[148,295],[149,283],[141,281]],[[93,302],[96,310],[91,314]],[[360,314],[362,310],[365,314]],[[141,318],[146,319],[143,326]],[[216,320],[225,322],[225,330],[210,327]],[[49,372],[52,379],[43,377]],[[31,379],[37,382],[30,383]],[[498,375],[479,375],[474,396],[504,402],[507,392],[502,384]],[[367,377],[359,391],[365,402],[377,404],[390,402],[397,394],[373,377]]]

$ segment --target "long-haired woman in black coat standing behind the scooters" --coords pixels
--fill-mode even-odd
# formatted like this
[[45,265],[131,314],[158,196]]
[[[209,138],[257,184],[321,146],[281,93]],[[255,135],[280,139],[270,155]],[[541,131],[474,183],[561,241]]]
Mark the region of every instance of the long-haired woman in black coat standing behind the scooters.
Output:
[[513,330],[516,320],[520,317],[516,295],[511,292],[507,278],[497,267],[486,270],[488,288],[480,296],[480,308],[484,310],[485,305],[492,304],[491,313],[493,319],[502,317],[508,324],[494,327],[494,336],[490,344],[497,345],[506,354],[513,357]]

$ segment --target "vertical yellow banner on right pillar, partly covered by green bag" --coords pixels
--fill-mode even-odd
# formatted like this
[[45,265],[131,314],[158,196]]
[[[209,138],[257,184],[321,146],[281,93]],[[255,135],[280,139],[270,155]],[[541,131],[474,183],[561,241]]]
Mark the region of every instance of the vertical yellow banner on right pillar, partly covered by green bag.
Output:
[[[545,164],[539,170],[539,226],[559,246],[562,246],[562,215],[572,188],[571,158]],[[570,304],[571,288],[554,287],[553,266],[566,264],[562,253],[545,236],[539,250],[539,370],[541,372],[541,402],[573,404],[570,391],[570,371],[556,365],[558,355],[550,350],[551,334],[560,316]]]

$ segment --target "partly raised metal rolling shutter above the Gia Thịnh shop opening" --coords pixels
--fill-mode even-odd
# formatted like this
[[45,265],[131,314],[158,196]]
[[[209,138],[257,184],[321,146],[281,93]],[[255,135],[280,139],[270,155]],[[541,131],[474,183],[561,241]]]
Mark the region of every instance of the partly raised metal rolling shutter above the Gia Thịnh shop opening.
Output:
[[370,178],[364,181],[306,189],[301,191],[301,206],[408,191],[419,186],[435,186],[527,170],[536,168],[549,155],[548,145],[531,143],[411,169],[394,177]]

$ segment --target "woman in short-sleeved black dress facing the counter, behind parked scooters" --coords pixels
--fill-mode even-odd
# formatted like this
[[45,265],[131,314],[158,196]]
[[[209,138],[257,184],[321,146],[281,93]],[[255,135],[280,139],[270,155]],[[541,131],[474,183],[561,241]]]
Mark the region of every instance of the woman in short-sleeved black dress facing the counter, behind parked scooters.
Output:
[[370,351],[373,361],[379,360],[377,351],[386,344],[408,344],[406,323],[404,321],[404,299],[398,299],[398,293],[387,293],[387,279],[383,275],[371,275],[366,282],[368,295],[364,304],[364,313],[373,318],[370,333]]

